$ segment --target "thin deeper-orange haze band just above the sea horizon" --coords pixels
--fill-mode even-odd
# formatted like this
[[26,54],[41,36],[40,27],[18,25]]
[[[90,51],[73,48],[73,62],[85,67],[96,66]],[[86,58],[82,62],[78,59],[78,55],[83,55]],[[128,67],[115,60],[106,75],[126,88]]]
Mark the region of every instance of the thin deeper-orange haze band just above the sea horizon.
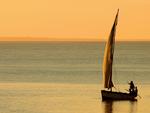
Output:
[[[70,39],[72,38],[72,39]],[[105,42],[107,41],[107,38],[106,37],[103,37],[103,38],[89,38],[89,37],[71,37],[70,38],[67,38],[67,37],[31,37],[31,36],[0,36],[0,41],[49,41],[49,42]],[[116,42],[146,42],[146,41],[150,41],[150,39],[143,39],[143,38],[128,38],[128,39],[125,39],[125,38],[119,38],[119,39],[116,39]]]

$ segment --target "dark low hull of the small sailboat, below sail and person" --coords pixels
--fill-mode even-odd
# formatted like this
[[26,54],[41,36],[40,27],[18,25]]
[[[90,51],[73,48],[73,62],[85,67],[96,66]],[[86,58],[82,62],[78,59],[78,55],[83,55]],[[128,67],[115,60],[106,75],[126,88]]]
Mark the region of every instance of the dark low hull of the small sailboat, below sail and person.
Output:
[[102,100],[136,100],[135,95],[123,92],[101,90]]

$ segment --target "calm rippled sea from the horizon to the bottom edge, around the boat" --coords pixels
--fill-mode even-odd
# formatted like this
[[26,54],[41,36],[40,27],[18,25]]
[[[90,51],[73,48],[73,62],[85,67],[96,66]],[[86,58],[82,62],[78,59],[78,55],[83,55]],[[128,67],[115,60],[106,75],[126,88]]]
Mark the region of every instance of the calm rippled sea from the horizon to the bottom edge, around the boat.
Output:
[[100,42],[0,42],[0,113],[149,113],[150,42],[117,42],[113,80],[137,102],[102,102]]

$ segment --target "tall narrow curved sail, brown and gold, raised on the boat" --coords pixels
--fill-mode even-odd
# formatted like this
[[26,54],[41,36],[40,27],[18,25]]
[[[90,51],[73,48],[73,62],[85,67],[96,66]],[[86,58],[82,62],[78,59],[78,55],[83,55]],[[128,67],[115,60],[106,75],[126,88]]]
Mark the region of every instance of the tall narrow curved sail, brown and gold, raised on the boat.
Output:
[[114,85],[112,82],[112,64],[113,64],[113,54],[114,54],[114,46],[115,46],[115,34],[116,34],[116,26],[118,21],[118,13],[116,14],[116,18],[114,24],[112,26],[108,41],[105,47],[104,60],[103,60],[103,81],[104,88],[111,89]]

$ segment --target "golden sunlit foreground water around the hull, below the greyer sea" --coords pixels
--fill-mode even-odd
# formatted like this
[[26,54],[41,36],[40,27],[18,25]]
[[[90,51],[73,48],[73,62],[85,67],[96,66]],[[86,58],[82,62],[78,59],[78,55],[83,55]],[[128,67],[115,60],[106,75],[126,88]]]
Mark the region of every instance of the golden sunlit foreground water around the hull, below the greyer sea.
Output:
[[[123,86],[121,86],[123,87]],[[1,83],[1,113],[144,113],[150,112],[149,85],[138,101],[101,101],[100,85]]]

